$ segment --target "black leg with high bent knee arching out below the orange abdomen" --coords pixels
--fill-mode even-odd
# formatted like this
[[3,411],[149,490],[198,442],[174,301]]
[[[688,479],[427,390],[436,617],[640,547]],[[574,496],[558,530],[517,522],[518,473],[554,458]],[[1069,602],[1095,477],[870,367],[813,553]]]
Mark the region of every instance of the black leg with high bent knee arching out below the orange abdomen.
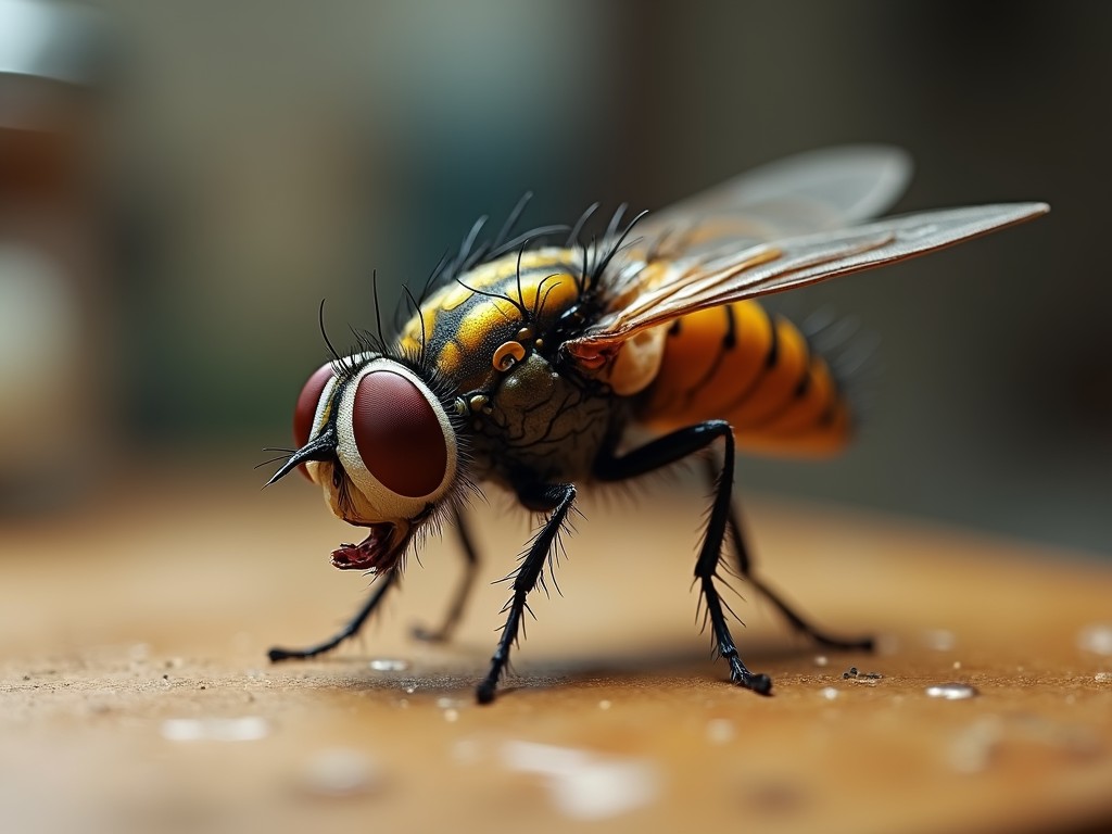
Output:
[[604,456],[596,461],[594,474],[599,480],[633,478],[705,449],[718,438],[725,445],[725,454],[714,485],[714,503],[711,505],[706,534],[695,562],[695,580],[699,584],[699,592],[706,604],[717,652],[729,663],[731,682],[767,695],[772,692],[772,678],[749,672],[742,663],[726,626],[722,598],[714,584],[722,559],[722,543],[729,524],[731,490],[734,483],[734,433],[729,424],[725,420],[707,420],[673,431],[622,457]]

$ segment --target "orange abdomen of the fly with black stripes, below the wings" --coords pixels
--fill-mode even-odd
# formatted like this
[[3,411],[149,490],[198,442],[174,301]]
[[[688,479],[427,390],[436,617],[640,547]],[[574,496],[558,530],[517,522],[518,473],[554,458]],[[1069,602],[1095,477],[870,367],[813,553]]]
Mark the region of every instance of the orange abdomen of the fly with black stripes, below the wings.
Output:
[[826,360],[803,334],[756,301],[673,322],[637,419],[667,431],[728,420],[738,445],[776,455],[825,455],[850,439],[850,409]]

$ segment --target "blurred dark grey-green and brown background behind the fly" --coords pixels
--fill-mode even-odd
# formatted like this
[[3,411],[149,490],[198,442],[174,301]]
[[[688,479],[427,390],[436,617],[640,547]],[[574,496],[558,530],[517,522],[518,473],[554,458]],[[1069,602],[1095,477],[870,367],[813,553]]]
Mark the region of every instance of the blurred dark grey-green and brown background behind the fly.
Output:
[[741,485],[1112,557],[1110,37],[1083,2],[0,0],[4,523],[249,470],[320,300],[344,341],[373,270],[393,309],[526,189],[566,222],[878,141],[917,163],[898,210],[1053,212],[785,299],[884,373],[848,454]]

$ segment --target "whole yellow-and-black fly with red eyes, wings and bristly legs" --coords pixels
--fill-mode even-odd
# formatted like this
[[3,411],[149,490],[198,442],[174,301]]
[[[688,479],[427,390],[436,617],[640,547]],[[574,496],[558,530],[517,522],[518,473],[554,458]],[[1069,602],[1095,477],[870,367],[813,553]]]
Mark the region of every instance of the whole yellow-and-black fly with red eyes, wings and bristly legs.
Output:
[[[481,221],[411,299],[398,334],[364,338],[306,384],[298,449],[274,480],[304,466],[331,510],[368,529],[332,564],[376,575],[370,597],[332,638],[275,648],[309,657],[355,634],[397,584],[400,563],[435,519],[455,523],[468,572],[444,626],[458,619],[477,554],[464,519],[483,481],[546,514],[513,574],[513,596],[480,702],[495,689],[527,597],[572,510],[577,485],[617,481],[716,450],[714,498],[695,565],[731,679],[767,694],[742,662],[716,584],[728,540],[735,567],[797,629],[831,646],[867,647],[814,628],[752,570],[732,506],[735,446],[790,454],[840,448],[851,413],[827,361],[786,319],[754,300],[939,249],[1046,211],[1043,203],[922,212],[863,224],[907,179],[905,157],[845,148],[767,166],[648,219],[582,240],[570,228],[512,238],[524,202],[490,241]],[[560,235],[563,244],[543,245]],[[379,328],[380,329],[380,328]],[[653,439],[629,447],[629,429]]]

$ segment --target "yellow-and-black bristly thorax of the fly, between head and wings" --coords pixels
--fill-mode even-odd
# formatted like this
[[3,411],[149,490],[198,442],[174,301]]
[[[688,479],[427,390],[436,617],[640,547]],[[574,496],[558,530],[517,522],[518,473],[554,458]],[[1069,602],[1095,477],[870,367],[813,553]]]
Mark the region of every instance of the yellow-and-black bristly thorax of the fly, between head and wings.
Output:
[[400,348],[424,353],[457,395],[474,476],[510,487],[586,478],[625,415],[607,386],[555,364],[580,276],[573,250],[507,256],[438,289],[403,328]]

